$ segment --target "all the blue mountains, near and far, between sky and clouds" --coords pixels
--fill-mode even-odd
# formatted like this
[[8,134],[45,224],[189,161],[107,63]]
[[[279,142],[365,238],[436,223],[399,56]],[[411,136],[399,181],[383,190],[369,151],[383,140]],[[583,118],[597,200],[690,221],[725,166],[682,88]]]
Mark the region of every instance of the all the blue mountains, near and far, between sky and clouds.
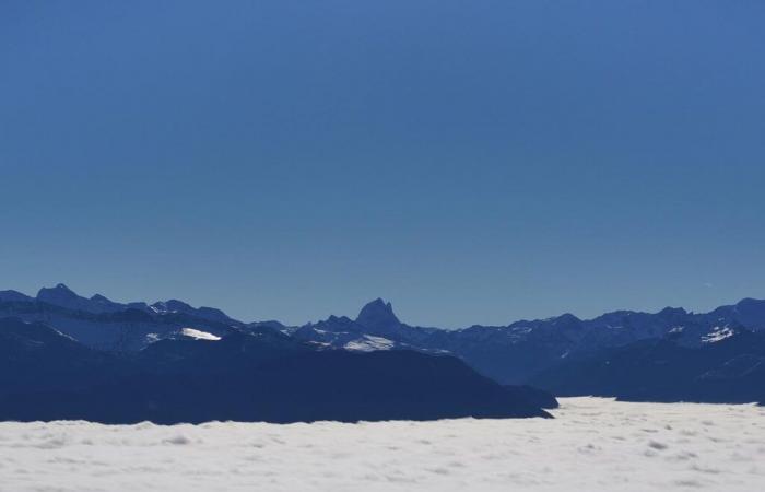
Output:
[[[0,291],[0,336],[15,343],[5,340],[8,361],[24,360],[16,356],[23,352],[24,371],[35,375],[26,384],[0,378],[0,418],[22,420],[531,417],[555,405],[528,384],[566,396],[765,401],[765,301],[753,298],[701,314],[678,307],[587,320],[564,314],[446,330],[407,325],[381,298],[355,318],[286,326],[240,321],[177,300],[89,298],[58,284],[34,297]],[[79,362],[70,367],[67,361]],[[21,370],[9,366],[4,374]],[[172,384],[176,379],[183,384]],[[216,406],[197,402],[196,410],[181,411],[183,402],[198,398],[189,387],[198,397],[216,395]],[[95,399],[115,406],[93,407]]]

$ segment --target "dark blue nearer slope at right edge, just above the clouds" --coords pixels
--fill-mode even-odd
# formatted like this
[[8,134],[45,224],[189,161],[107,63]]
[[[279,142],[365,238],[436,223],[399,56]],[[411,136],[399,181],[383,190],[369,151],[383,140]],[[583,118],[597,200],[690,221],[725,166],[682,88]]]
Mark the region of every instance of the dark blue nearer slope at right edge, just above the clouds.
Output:
[[765,403],[764,332],[720,329],[699,348],[683,347],[673,335],[565,361],[530,383],[557,396]]

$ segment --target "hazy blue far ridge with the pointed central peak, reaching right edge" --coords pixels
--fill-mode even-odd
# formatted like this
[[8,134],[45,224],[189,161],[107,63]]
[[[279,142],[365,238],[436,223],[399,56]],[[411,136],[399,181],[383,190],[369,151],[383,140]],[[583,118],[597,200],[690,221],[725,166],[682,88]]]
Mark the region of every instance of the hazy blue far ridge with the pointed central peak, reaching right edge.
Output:
[[[507,326],[471,326],[458,330],[413,327],[398,320],[389,303],[375,300],[356,319],[330,316],[286,328],[293,337],[336,349],[387,343],[428,353],[451,353],[503,384],[522,384],[566,359],[586,358],[604,348],[673,333],[676,342],[699,348],[723,329],[765,330],[765,301],[743,300],[710,313],[664,308],[656,314],[619,311],[589,320],[570,314],[520,320]],[[374,341],[369,341],[375,337]]]

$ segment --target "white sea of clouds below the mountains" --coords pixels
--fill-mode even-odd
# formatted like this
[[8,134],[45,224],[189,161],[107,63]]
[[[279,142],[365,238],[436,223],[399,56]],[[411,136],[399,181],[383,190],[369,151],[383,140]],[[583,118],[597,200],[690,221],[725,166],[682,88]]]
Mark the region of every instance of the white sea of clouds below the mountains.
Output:
[[0,423],[0,491],[765,490],[765,408],[562,399],[555,420]]

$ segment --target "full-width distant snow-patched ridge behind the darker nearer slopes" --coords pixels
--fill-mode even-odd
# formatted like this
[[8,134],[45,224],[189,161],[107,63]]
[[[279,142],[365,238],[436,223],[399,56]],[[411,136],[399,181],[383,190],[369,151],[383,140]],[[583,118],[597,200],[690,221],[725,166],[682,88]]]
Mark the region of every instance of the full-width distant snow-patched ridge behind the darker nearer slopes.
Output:
[[501,384],[523,384],[540,372],[603,349],[672,336],[680,347],[697,349],[726,330],[765,331],[765,301],[744,298],[709,313],[667,307],[658,313],[616,311],[592,319],[572,314],[506,326],[474,325],[457,330],[410,326],[382,298],[362,307],[355,318],[330,316],[303,326],[279,321],[244,323],[211,307],[195,308],[170,300],[120,304],[103,295],[91,298],[66,285],[43,289],[37,297],[0,292],[0,317],[42,321],[89,347],[136,351],[192,328],[215,337],[233,331],[278,331],[323,350],[380,351],[409,349],[452,354]]

